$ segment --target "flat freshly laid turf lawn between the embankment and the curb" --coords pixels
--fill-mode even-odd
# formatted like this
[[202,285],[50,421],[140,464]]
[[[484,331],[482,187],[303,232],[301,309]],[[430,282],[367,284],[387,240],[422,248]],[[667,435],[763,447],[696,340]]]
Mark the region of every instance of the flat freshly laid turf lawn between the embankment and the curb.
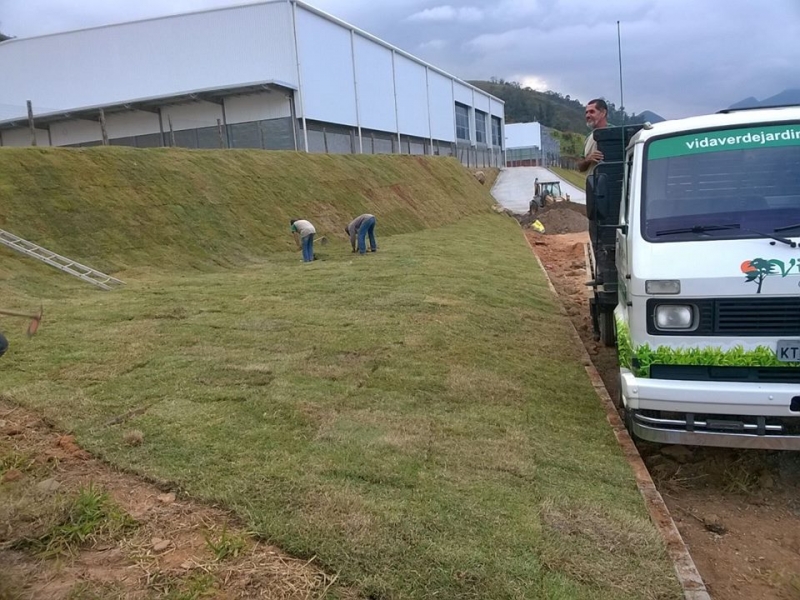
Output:
[[46,317],[0,391],[365,598],[679,598],[517,224],[378,236],[114,292],[4,257]]

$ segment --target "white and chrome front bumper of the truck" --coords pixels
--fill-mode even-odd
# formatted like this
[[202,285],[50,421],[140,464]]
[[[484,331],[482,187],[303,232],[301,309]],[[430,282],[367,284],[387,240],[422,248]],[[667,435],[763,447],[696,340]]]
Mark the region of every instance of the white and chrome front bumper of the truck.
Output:
[[620,381],[628,426],[660,444],[800,450],[800,385],[675,381],[636,377]]

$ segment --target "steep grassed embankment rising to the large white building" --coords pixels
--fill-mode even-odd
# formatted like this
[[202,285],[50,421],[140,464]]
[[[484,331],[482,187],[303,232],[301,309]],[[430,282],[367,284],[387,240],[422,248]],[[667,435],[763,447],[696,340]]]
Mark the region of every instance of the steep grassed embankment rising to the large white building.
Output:
[[344,239],[487,212],[488,187],[454,159],[129,148],[0,149],[0,229],[106,272],[236,265],[293,248],[290,218]]

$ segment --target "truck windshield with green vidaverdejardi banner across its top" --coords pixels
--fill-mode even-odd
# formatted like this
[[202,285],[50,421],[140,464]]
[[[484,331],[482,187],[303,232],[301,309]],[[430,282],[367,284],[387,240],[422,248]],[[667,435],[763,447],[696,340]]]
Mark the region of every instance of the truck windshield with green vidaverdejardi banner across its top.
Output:
[[[764,237],[800,224],[800,123],[655,139],[644,178],[645,239]],[[738,226],[707,235],[719,223]],[[783,235],[798,236],[800,227]]]

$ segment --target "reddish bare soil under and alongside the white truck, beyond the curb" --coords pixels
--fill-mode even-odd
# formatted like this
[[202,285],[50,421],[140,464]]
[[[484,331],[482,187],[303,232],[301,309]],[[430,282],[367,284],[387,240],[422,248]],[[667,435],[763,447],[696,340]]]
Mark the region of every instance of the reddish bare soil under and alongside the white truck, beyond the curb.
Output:
[[[525,234],[615,398],[616,349],[593,339],[589,318],[587,234]],[[800,600],[796,453],[637,445],[715,600]]]

